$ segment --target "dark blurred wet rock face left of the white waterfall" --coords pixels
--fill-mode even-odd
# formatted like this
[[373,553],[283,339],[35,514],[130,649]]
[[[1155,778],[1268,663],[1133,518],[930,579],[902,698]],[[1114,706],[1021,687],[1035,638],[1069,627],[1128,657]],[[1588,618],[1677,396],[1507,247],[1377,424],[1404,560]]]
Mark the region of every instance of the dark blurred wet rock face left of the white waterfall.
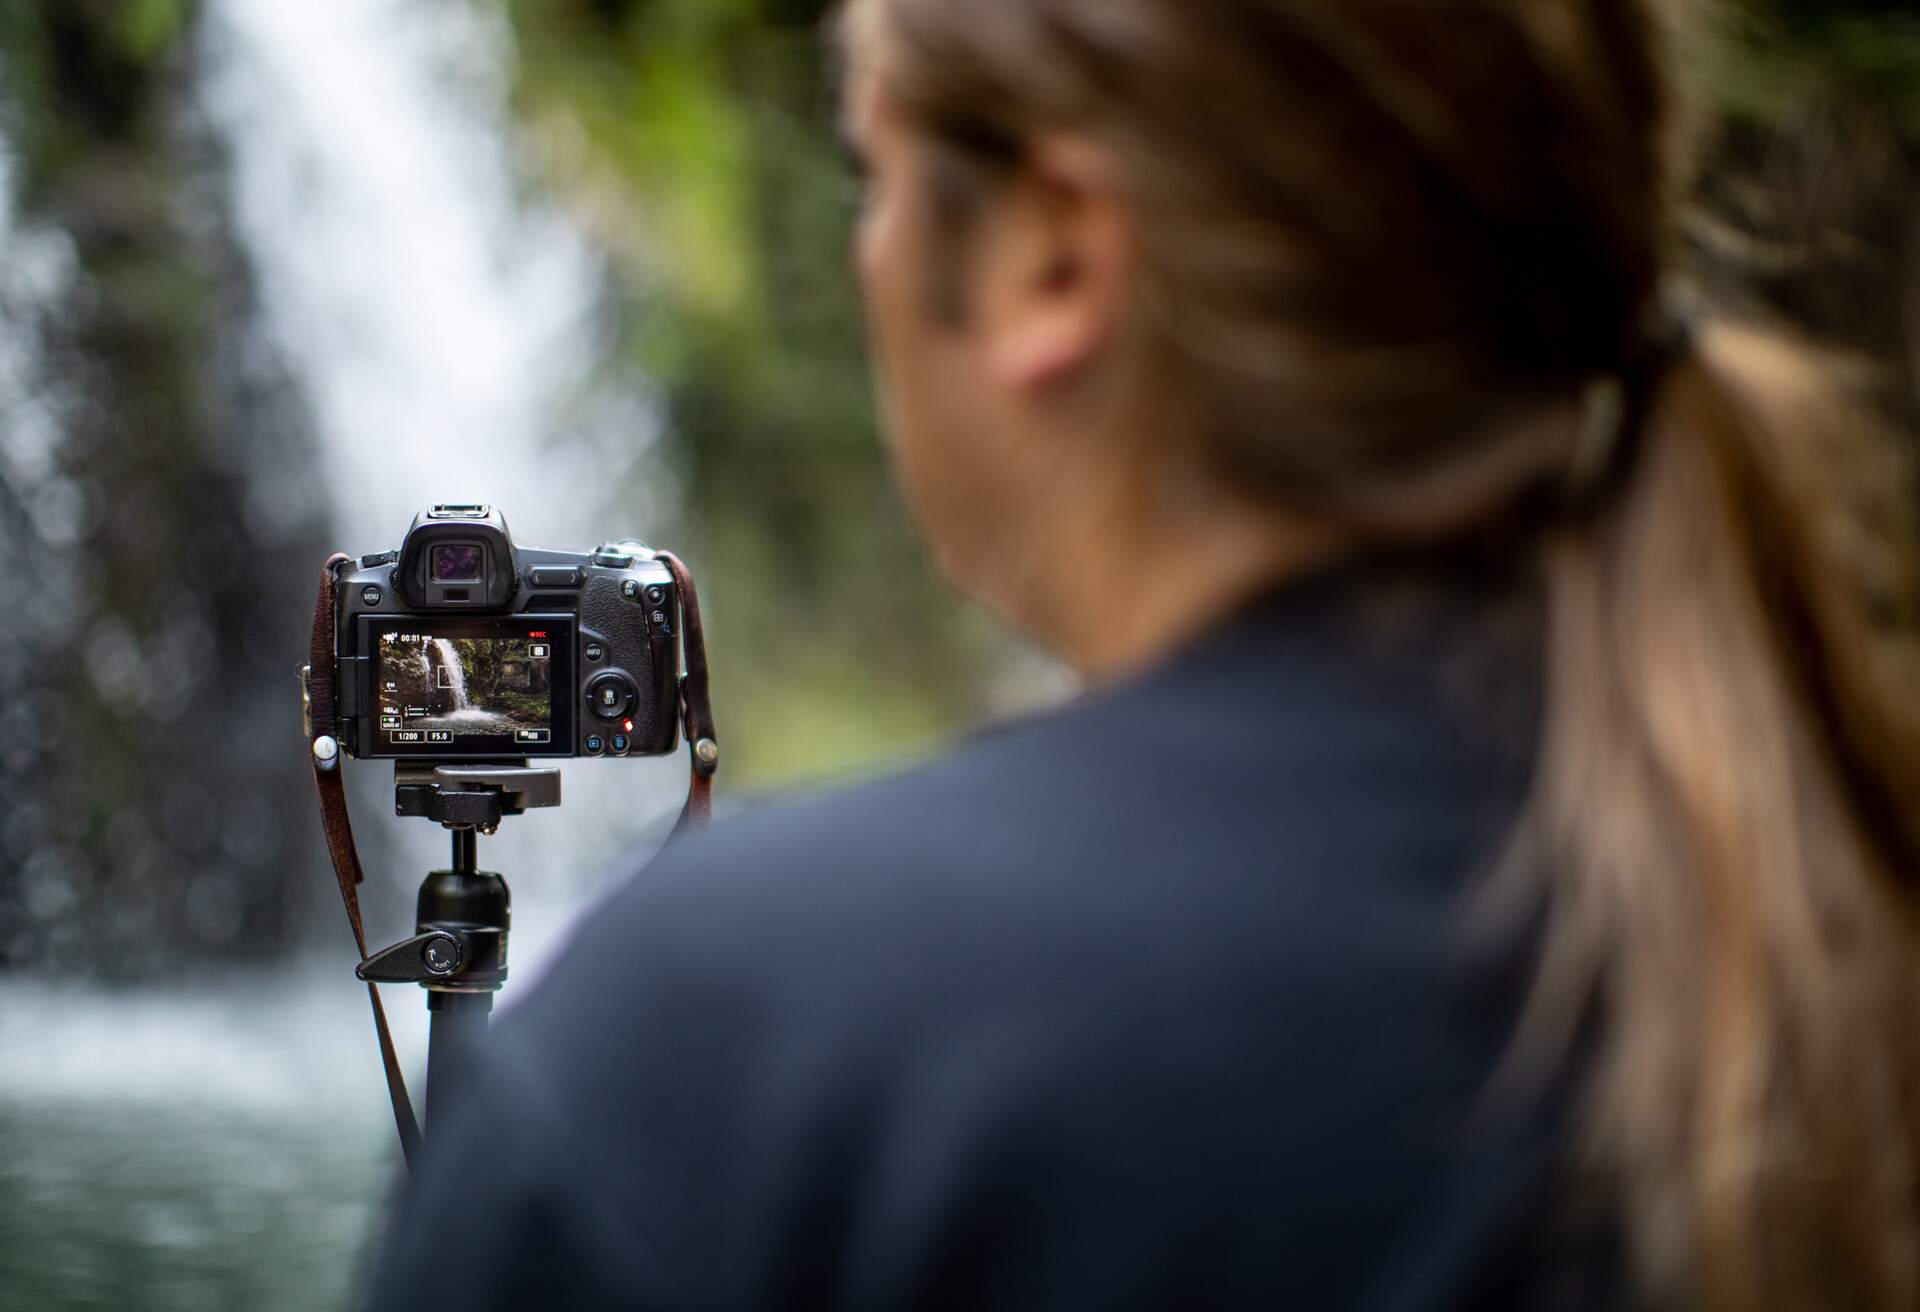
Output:
[[324,507],[284,371],[236,350],[190,19],[0,6],[0,964],[271,951],[313,872],[288,670]]

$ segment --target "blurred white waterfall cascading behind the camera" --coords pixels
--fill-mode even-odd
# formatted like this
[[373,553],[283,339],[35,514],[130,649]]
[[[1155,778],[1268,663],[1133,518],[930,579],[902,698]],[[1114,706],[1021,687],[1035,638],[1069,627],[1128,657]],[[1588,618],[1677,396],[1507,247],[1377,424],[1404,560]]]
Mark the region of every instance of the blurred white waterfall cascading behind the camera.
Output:
[[[280,352],[321,428],[340,546],[399,546],[434,501],[486,501],[526,544],[647,536],[616,501],[659,434],[651,398],[599,386],[601,267],[516,179],[511,33],[468,0],[209,0],[205,98]],[[645,486],[645,484],[641,484]],[[301,584],[303,586],[303,584]],[[405,916],[444,834],[392,820],[392,770],[353,765],[363,832]],[[678,761],[566,766],[566,805],[511,820],[482,863],[520,926],[564,916],[662,836]],[[636,805],[636,799],[639,803]],[[382,924],[396,924],[384,918]]]

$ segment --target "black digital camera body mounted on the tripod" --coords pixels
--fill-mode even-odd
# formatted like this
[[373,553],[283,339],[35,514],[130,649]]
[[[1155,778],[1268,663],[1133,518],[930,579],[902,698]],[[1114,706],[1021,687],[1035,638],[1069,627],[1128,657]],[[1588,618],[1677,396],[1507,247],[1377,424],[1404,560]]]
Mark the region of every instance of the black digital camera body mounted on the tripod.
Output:
[[340,572],[334,655],[336,738],[363,761],[678,745],[680,595],[639,542],[541,551],[488,505],[436,505]]

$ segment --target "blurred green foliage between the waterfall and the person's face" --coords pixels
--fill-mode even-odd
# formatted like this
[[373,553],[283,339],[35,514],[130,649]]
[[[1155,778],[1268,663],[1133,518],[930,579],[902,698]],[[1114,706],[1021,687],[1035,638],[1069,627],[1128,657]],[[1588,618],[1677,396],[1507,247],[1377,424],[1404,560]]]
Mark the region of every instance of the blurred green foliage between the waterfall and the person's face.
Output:
[[614,255],[668,398],[730,768],[868,768],[979,718],[874,428],[820,2],[499,0],[536,156]]

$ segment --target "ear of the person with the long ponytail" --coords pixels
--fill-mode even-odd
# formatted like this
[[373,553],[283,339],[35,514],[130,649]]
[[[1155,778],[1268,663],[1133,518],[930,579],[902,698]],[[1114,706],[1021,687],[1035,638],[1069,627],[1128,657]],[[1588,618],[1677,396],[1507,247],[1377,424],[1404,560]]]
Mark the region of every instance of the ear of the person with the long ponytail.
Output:
[[1119,334],[1133,221],[1112,161],[1081,138],[1037,142],[1008,200],[983,261],[989,367],[1031,394],[1083,377]]

